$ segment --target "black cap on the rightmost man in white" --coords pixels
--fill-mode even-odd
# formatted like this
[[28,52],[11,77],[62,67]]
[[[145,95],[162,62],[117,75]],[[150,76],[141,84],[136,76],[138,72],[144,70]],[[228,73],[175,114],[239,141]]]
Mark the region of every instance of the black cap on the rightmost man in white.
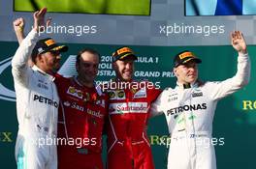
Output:
[[202,60],[197,58],[194,53],[192,53],[189,50],[184,50],[180,53],[177,53],[175,56],[175,60],[174,60],[174,65],[175,67],[179,66],[179,65],[183,65],[186,64],[188,61],[194,61],[197,64],[202,63]]

